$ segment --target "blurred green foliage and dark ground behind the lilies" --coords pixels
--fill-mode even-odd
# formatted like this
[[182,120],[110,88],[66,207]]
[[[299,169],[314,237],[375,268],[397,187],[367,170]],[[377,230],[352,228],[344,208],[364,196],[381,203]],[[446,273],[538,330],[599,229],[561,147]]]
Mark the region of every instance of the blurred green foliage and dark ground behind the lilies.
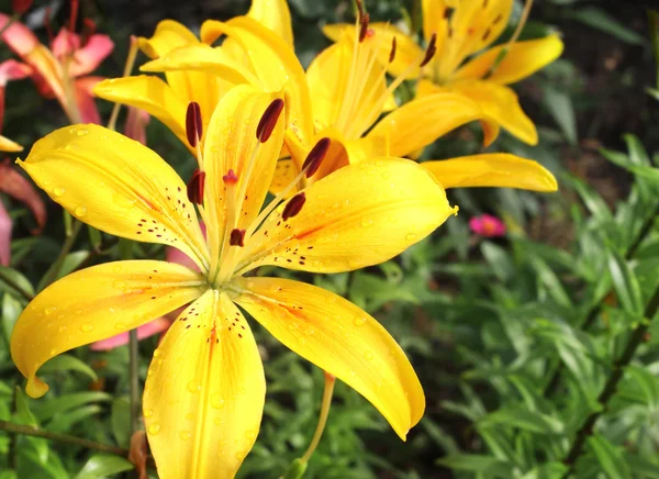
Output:
[[[566,44],[559,60],[515,86],[540,142],[532,147],[502,134],[489,151],[543,163],[559,178],[559,193],[451,190],[460,214],[401,257],[308,278],[365,308],[396,337],[420,375],[427,410],[402,444],[370,404],[338,382],[306,477],[659,477],[659,322],[651,322],[659,308],[659,16],[648,10],[651,3],[534,5],[522,38],[558,31]],[[371,19],[418,30],[417,1],[366,4]],[[68,2],[35,1],[22,19],[44,41],[47,5],[58,29]],[[353,18],[347,0],[290,5],[303,65],[328,45],[319,26]],[[115,42],[98,70],[112,77],[123,70],[131,34],[148,36],[165,18],[194,29],[247,8],[242,0],[82,0],[79,16]],[[10,2],[0,1],[0,11],[11,12]],[[500,42],[514,31],[522,2],[515,12]],[[11,57],[5,45],[0,55]],[[399,91],[402,99],[413,87]],[[11,82],[5,96],[2,134],[26,147],[67,124],[56,103],[27,80]],[[112,105],[98,104],[109,118]],[[476,127],[460,129],[426,148],[422,159],[478,153],[478,135]],[[164,125],[152,121],[147,137],[190,177],[192,158]],[[0,478],[130,477],[133,466],[120,457],[131,439],[129,347],[79,348],[49,361],[43,372],[52,376],[52,390],[33,401],[21,390],[8,344],[43,278],[165,252],[93,230],[71,239],[62,210],[45,197],[51,221],[32,235],[43,224],[4,192],[14,230],[11,263],[0,268],[0,421],[23,426],[20,434],[0,432]],[[484,213],[503,221],[504,234],[470,230],[470,220]],[[67,243],[70,252],[53,270]],[[305,449],[324,381],[322,371],[267,333],[256,334],[268,400],[239,475],[275,478]],[[142,380],[156,344],[156,336],[139,343]],[[24,434],[31,427],[56,437]]]

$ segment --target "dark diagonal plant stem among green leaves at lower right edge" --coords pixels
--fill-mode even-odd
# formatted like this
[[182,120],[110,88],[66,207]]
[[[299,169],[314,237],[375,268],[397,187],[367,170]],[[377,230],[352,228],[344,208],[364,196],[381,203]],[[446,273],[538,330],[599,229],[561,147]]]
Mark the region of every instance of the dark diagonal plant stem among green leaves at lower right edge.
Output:
[[593,433],[593,427],[597,419],[600,419],[600,416],[606,411],[608,400],[615,393],[617,385],[623,378],[623,369],[629,364],[629,361],[634,357],[634,354],[636,353],[636,349],[644,342],[644,337],[648,332],[648,327],[650,326],[652,318],[655,318],[658,310],[659,287],[657,287],[655,293],[652,294],[652,298],[648,302],[644,312],[644,318],[641,319],[636,330],[634,330],[634,333],[632,334],[632,337],[629,338],[629,343],[627,343],[625,350],[623,352],[621,357],[613,364],[613,371],[606,380],[606,383],[604,385],[604,389],[600,393],[600,397],[597,398],[597,402],[602,405],[602,408],[599,411],[595,411],[592,414],[590,414],[583,423],[583,425],[579,428],[579,431],[577,431],[574,442],[572,443],[570,452],[563,460],[563,464],[566,464],[569,467],[569,470],[566,472],[566,475],[563,475],[563,479],[567,478],[571,471],[573,471],[574,463],[577,461],[579,455],[581,454],[581,450],[583,449],[583,444],[585,443],[585,439],[589,435]]

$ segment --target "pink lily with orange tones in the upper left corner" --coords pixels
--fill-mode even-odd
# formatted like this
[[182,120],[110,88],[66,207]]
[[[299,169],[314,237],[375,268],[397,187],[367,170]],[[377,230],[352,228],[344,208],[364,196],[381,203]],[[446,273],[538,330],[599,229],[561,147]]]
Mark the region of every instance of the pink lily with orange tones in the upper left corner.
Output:
[[[42,96],[59,101],[72,123],[100,123],[91,89],[103,78],[87,75],[110,55],[114,43],[108,35],[93,34],[91,22],[85,24],[88,31],[82,35],[62,29],[48,48],[25,25],[0,13],[2,40],[23,60],[12,65],[12,71],[22,76],[5,75],[2,82],[0,74],[0,96],[7,80],[30,76]],[[16,65],[22,65],[20,71]]]

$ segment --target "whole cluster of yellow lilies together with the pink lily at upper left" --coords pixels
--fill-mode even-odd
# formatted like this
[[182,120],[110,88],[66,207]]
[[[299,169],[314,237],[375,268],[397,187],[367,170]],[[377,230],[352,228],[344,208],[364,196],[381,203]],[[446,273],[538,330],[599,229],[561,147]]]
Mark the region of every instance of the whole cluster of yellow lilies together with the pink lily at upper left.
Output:
[[[409,159],[472,121],[485,145],[500,126],[535,142],[501,85],[556,58],[557,37],[534,41],[541,58],[536,46],[514,43],[496,67],[504,47],[460,66],[501,34],[512,0],[424,0],[424,48],[370,23],[357,4],[354,25],[325,29],[335,43],[306,70],[284,0],[254,0],[244,16],[205,21],[200,37],[163,21],[137,46],[150,58],[141,70],[165,79],[76,79],[111,48],[94,35],[66,30],[52,49],[14,47],[30,68],[21,71],[43,80],[76,123],[36,142],[19,165],[77,220],[165,245],[189,264],[123,260],[59,279],[18,320],[12,358],[26,392],[41,397],[48,386],[36,374],[52,357],[182,309],[154,353],[143,398],[160,477],[233,477],[252,449],[266,381],[248,316],[361,393],[405,439],[425,399],[391,335],[346,299],[258,268],[332,274],[386,261],[457,213],[448,188],[557,188],[544,167],[510,154]],[[5,29],[8,43],[18,27]],[[40,69],[46,63],[51,69]],[[415,78],[417,97],[398,105],[395,89]],[[97,97],[167,125],[196,157],[192,177],[185,182],[145,145],[98,125],[87,97],[67,93],[89,92],[89,83]]]

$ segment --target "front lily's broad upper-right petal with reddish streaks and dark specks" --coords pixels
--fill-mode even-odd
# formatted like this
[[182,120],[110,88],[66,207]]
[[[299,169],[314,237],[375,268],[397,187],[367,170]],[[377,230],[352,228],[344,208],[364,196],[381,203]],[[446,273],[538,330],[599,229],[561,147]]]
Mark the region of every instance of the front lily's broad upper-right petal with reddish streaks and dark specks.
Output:
[[300,213],[283,205],[245,243],[242,266],[338,272],[376,265],[423,239],[451,214],[442,187],[416,163],[349,165],[304,190]]

